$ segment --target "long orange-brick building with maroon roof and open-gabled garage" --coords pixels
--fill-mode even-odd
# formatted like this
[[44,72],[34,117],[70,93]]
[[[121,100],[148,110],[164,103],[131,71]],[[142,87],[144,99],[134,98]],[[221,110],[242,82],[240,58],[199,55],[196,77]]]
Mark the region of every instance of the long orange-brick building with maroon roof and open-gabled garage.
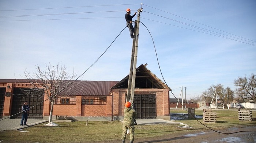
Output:
[[[73,120],[122,119],[126,101],[127,75],[121,81],[75,81],[76,89],[67,96],[59,95],[54,102],[53,116],[67,115]],[[31,84],[26,79],[0,79],[0,118],[11,115],[19,119],[21,107],[29,101],[31,119],[48,119],[50,101],[47,96],[30,95]],[[26,90],[24,90],[26,89]],[[79,90],[78,90],[79,89]],[[136,69],[133,103],[138,119],[166,119],[169,115],[169,87],[156,75],[140,65]],[[15,115],[17,114],[17,115]]]

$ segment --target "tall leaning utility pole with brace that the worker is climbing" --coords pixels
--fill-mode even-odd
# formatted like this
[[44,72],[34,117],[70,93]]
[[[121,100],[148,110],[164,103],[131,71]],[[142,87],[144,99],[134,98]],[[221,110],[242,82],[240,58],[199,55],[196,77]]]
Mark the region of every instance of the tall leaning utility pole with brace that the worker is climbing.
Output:
[[135,20],[135,24],[134,24],[134,35],[136,37],[133,38],[133,43],[132,43],[131,66],[130,66],[128,89],[127,89],[127,96],[126,96],[126,102],[128,102],[128,99],[130,97],[131,103],[133,103],[135,79],[136,79],[136,65],[137,65],[137,55],[138,55],[139,25],[140,25],[141,12],[142,12],[142,7],[138,9],[137,20]]

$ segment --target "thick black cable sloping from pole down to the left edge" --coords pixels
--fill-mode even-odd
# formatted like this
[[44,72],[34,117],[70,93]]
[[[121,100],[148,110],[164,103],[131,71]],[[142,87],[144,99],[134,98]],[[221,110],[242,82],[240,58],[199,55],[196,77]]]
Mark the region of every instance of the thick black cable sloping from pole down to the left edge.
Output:
[[[124,27],[124,29],[125,29],[125,28],[126,28],[126,26]],[[124,29],[117,35],[117,37],[124,31]],[[113,40],[113,42],[109,45],[109,47],[114,43],[114,41],[117,39],[117,37]],[[83,74],[86,73],[86,72],[102,57],[102,55],[109,49],[109,47],[101,54],[101,56],[99,56],[99,58],[98,58],[86,71],[83,72]],[[73,82],[69,83],[68,86],[70,86],[72,83],[74,83],[76,80],[78,80],[83,74],[81,74],[81,75],[80,75],[78,78],[76,78]],[[67,86],[67,87],[68,87],[68,86]],[[66,88],[67,88],[67,87],[66,87]],[[64,89],[65,89],[65,88],[64,88]],[[63,90],[64,90],[64,89],[63,89]],[[61,90],[61,91],[63,91],[63,90]],[[59,92],[61,92],[61,91],[59,91]],[[47,98],[46,100],[50,99],[50,98],[53,97],[53,96],[54,96],[54,95],[50,96],[50,97]],[[38,104],[41,104],[41,103],[45,102],[46,100],[44,100],[44,101],[42,101],[42,102],[40,102],[40,103],[38,103]],[[38,104],[36,104],[35,106],[37,106]],[[33,108],[33,107],[35,107],[35,106],[32,106],[32,107],[30,107],[30,108]],[[29,109],[30,109],[30,108],[29,108]],[[29,109],[27,109],[27,110],[29,110]],[[24,110],[24,111],[26,111],[26,110]],[[21,111],[21,112],[23,112],[23,111]],[[20,114],[21,112],[18,112],[17,114]],[[17,114],[14,114],[14,115],[17,115]],[[10,117],[12,117],[12,116],[14,116],[14,115],[8,116],[8,117],[3,118],[3,119],[10,118]],[[0,119],[0,121],[3,120],[3,119]]]

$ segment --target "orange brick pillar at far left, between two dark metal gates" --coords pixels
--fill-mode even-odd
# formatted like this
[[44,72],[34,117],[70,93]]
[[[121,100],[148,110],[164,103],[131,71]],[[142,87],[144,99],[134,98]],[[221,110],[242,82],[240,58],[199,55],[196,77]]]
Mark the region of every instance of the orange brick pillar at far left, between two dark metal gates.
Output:
[[[11,109],[12,109],[12,94],[13,94],[13,88],[12,84],[8,84],[10,88],[6,87],[6,92],[5,92],[5,98],[4,98],[4,111],[3,111],[3,116],[10,116],[11,115]],[[9,96],[9,97],[8,97]]]

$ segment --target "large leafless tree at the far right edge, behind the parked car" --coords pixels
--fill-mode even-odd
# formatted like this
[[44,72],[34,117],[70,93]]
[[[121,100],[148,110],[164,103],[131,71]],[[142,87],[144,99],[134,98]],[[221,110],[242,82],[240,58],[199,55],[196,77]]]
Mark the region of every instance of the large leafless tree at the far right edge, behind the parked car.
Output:
[[243,101],[253,100],[256,104],[256,75],[251,74],[249,78],[246,77],[238,77],[238,79],[234,80],[234,85],[238,88],[236,89],[236,94],[239,99]]

